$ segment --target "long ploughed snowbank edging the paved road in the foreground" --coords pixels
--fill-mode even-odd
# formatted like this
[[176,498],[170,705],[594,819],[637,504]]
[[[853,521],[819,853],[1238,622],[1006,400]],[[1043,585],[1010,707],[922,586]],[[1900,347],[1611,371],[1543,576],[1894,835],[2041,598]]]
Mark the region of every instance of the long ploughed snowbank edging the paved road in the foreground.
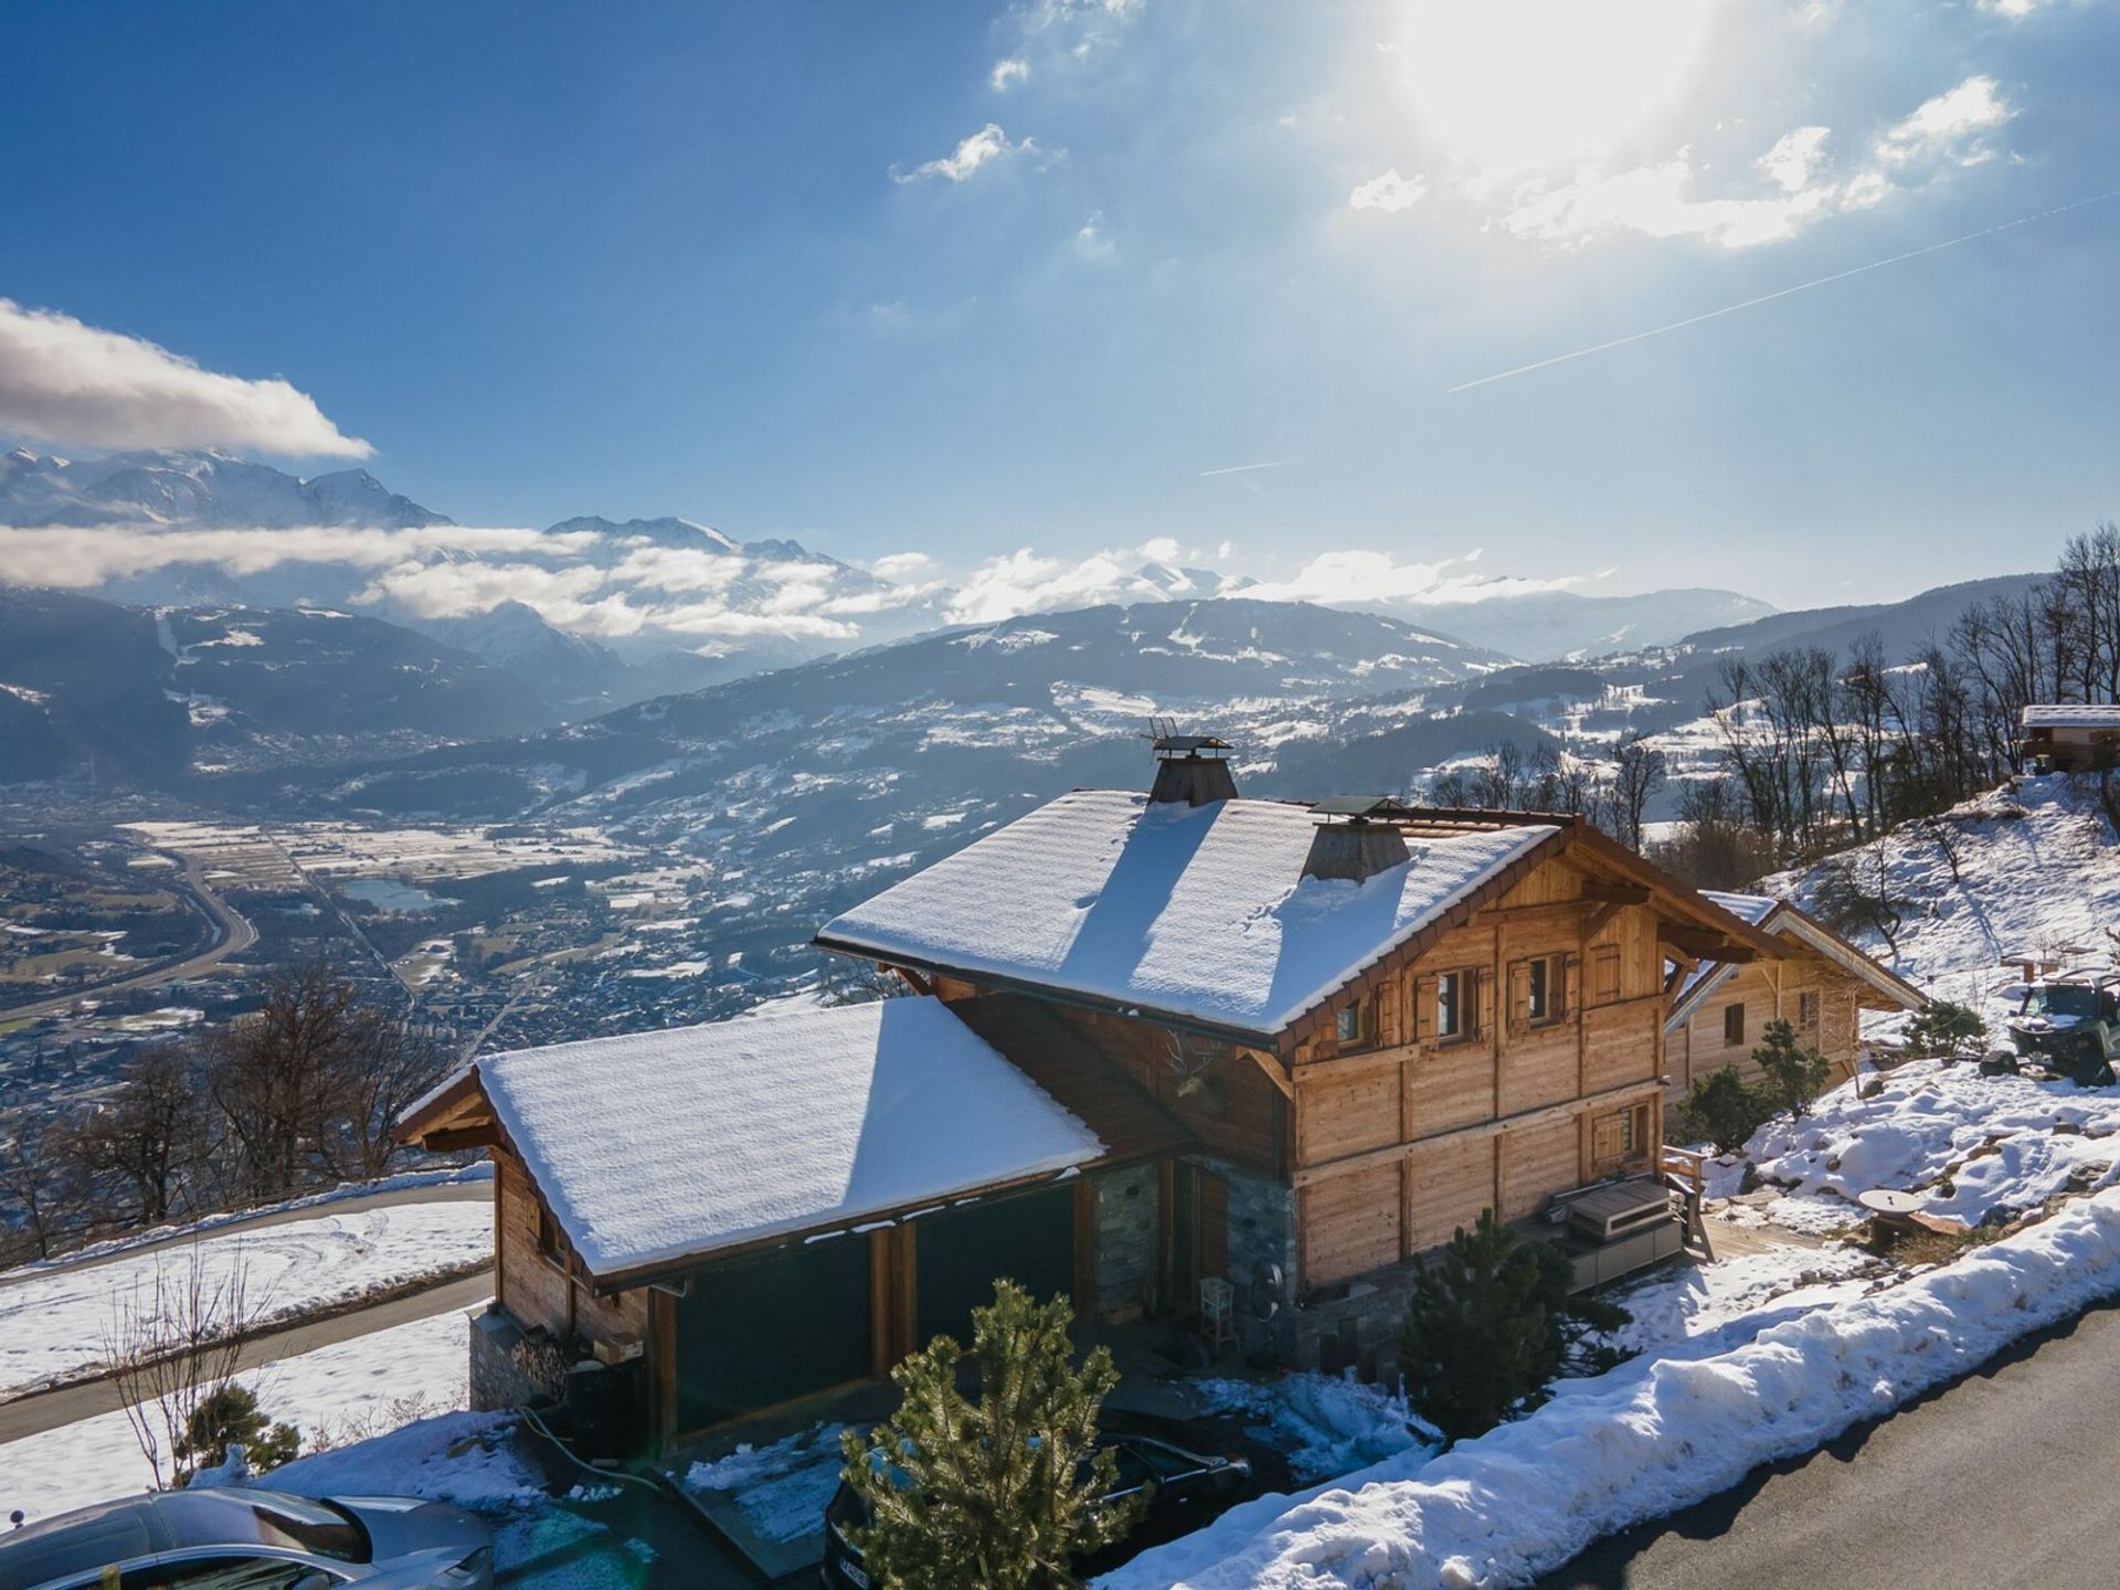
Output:
[[2120,1189],[1872,1297],[1702,1359],[1628,1363],[1446,1456],[1268,1497],[1098,1584],[1147,1590],[1522,1586],[1592,1539],[1810,1452],[2120,1293]]

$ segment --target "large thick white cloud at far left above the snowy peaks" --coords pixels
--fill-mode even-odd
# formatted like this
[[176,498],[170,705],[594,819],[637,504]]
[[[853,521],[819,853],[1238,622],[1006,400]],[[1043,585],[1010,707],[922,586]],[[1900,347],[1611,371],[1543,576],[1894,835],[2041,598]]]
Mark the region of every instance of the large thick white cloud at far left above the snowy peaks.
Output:
[[367,458],[286,382],[199,369],[142,337],[0,299],[0,430],[83,447],[257,447]]

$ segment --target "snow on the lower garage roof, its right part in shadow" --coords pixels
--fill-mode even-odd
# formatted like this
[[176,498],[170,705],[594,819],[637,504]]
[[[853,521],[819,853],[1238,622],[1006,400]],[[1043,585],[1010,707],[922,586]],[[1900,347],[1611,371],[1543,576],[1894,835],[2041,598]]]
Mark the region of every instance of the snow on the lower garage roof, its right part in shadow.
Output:
[[477,1062],[596,1276],[1062,1172],[1105,1145],[935,999]]

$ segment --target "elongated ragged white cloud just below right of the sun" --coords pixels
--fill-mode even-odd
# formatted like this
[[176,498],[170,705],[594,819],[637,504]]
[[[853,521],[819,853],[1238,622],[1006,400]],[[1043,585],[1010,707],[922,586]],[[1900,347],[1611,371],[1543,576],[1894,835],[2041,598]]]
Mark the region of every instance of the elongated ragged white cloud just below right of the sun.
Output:
[[1560,187],[1524,182],[1499,225],[1516,237],[1571,248],[1615,233],[1700,237],[1721,248],[1783,242],[1827,216],[1870,210],[1946,170],[1993,159],[1997,134],[2014,114],[1995,78],[1969,76],[1885,127],[1847,167],[1830,159],[1830,131],[1806,125],[1753,161],[1764,193],[1702,197],[1709,167],[1681,148],[1656,165],[1586,172]]

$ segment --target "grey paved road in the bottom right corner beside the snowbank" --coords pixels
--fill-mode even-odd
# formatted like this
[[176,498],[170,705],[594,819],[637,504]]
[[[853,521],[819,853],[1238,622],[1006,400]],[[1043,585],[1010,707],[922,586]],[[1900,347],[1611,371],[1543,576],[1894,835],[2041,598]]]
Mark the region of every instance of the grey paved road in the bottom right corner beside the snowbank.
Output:
[[2109,1590],[2120,1306],[1891,1418],[1592,1545],[1537,1590]]

